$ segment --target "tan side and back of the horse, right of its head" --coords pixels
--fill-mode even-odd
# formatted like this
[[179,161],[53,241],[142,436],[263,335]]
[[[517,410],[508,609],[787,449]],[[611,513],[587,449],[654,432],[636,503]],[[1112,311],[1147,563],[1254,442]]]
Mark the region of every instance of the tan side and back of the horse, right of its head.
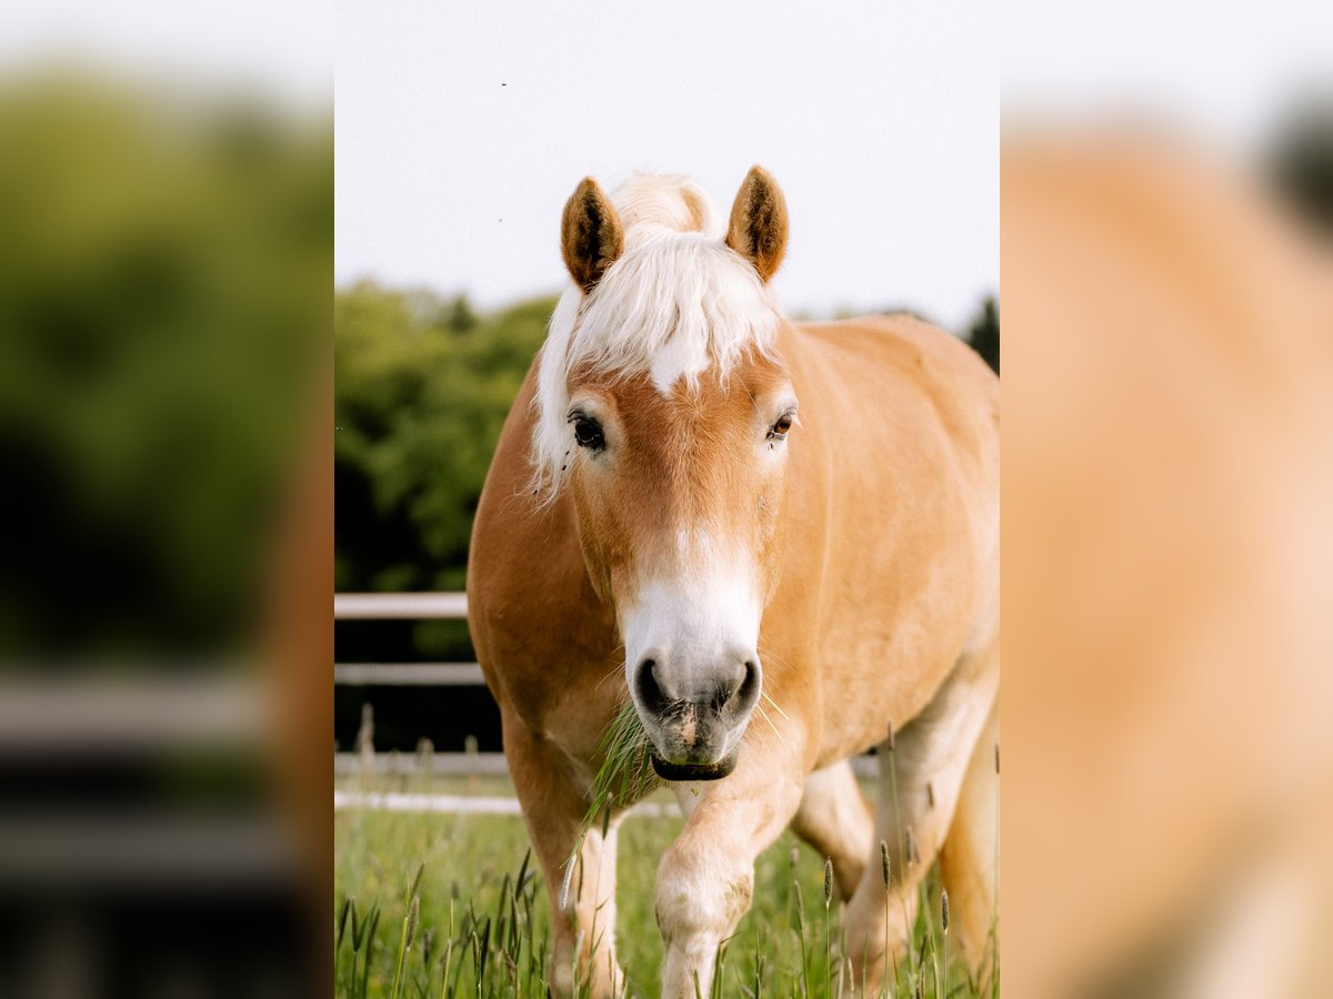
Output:
[[993,634],[998,380],[910,316],[794,325],[781,350],[800,400],[789,503],[802,530],[765,621],[814,635],[781,653],[818,661],[826,761],[914,717]]

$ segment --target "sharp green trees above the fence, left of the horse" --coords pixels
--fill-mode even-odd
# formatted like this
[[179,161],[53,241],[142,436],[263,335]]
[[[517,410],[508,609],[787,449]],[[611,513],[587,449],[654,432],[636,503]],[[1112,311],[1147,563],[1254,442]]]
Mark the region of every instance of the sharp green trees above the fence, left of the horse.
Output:
[[479,317],[461,296],[337,293],[339,590],[463,589],[481,485],[553,308]]

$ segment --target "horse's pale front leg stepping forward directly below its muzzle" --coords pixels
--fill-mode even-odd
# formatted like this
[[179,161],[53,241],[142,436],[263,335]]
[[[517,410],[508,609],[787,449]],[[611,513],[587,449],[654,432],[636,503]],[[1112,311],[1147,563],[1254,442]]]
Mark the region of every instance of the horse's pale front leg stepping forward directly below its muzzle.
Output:
[[801,801],[805,773],[790,749],[748,743],[734,773],[693,786],[697,803],[657,867],[664,999],[709,994],[717,946],[749,910],[754,859]]

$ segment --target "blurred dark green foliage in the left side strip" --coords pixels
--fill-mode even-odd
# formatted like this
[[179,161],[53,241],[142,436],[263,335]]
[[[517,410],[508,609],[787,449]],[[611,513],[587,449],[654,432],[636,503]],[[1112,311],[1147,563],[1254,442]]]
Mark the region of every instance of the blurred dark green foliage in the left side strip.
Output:
[[332,129],[48,75],[0,149],[0,650],[216,654],[315,430]]

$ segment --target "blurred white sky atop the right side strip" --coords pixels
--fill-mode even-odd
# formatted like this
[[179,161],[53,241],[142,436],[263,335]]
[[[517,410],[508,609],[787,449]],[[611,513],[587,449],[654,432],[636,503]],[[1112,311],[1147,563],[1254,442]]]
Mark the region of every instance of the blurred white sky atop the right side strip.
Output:
[[1004,0],[1006,125],[1133,116],[1224,155],[1262,155],[1304,97],[1333,93],[1328,0]]

